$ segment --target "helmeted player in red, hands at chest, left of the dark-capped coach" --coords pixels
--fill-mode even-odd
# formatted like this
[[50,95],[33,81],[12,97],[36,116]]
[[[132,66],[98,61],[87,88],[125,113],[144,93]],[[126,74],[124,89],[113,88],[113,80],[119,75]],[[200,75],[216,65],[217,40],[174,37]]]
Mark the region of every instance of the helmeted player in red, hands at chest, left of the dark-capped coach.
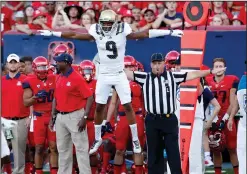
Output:
[[48,128],[56,78],[54,75],[48,75],[49,63],[45,57],[36,57],[32,67],[35,75],[27,77],[22,86],[24,105],[33,106],[36,174],[43,173],[46,140],[49,143],[51,174],[56,174],[58,169],[56,133]]

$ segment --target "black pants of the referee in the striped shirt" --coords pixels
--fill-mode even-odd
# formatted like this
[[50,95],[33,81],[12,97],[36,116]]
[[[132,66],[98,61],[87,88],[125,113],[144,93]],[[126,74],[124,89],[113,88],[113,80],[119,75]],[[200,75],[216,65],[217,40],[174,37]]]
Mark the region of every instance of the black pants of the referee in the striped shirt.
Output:
[[175,114],[147,114],[145,119],[148,174],[164,174],[164,147],[171,174],[182,174],[178,145],[178,119]]

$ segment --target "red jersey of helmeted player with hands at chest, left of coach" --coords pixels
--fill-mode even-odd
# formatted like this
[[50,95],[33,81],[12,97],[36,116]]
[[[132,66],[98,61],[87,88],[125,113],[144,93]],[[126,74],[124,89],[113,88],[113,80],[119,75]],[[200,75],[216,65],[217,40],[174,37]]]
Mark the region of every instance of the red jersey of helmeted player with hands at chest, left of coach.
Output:
[[33,95],[36,95],[41,91],[46,91],[48,93],[47,97],[38,99],[33,105],[34,111],[50,112],[52,110],[52,101],[56,87],[55,75],[48,75],[46,81],[39,80],[37,76],[29,76],[23,82],[23,87],[29,87],[33,91]]

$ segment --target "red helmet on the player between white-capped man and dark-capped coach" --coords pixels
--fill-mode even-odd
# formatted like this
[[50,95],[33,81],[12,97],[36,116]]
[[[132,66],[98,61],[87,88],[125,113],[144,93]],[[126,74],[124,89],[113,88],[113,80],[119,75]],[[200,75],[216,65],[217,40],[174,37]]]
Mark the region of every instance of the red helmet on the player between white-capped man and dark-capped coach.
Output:
[[33,60],[32,68],[39,79],[45,79],[48,75],[49,62],[43,56],[38,56]]

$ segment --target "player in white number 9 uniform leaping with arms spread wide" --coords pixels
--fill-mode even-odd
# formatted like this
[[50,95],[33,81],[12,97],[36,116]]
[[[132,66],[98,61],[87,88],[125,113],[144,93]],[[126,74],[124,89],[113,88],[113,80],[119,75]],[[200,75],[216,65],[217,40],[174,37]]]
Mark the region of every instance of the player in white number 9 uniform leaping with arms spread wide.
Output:
[[[96,112],[95,112],[95,143],[90,149],[90,154],[97,151],[102,144],[101,127],[103,122],[104,108],[111,91],[115,87],[121,104],[129,121],[133,151],[141,153],[141,147],[137,135],[135,113],[131,106],[131,92],[129,81],[124,73],[124,56],[127,39],[153,38],[165,35],[182,37],[181,30],[151,29],[141,32],[132,32],[127,23],[118,22],[117,14],[113,10],[104,10],[99,17],[99,23],[91,25],[89,32],[80,34],[76,32],[56,32],[39,30],[43,36],[57,36],[67,39],[95,40],[100,58],[98,80],[96,85]],[[84,119],[84,118],[82,118]]]

